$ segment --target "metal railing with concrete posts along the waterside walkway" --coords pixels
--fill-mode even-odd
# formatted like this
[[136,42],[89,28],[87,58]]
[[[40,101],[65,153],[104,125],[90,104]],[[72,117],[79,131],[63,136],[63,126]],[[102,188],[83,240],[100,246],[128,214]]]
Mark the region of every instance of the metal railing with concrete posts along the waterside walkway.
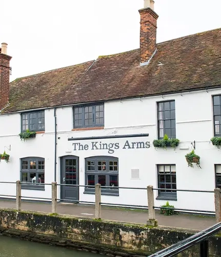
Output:
[[[162,190],[161,188],[153,188],[153,186],[148,186],[147,188],[133,188],[133,187],[114,187],[115,189],[122,189],[122,190],[145,190],[147,192],[147,203],[148,205],[127,205],[127,204],[112,204],[112,203],[105,203],[101,201],[101,190],[102,189],[113,189],[113,187],[101,186],[97,184],[95,186],[89,185],[67,185],[67,184],[59,184],[57,182],[52,183],[34,183],[34,186],[51,186],[51,198],[45,197],[31,197],[31,196],[24,196],[22,195],[22,185],[33,185],[33,183],[28,182],[21,182],[17,180],[16,182],[3,182],[0,183],[6,184],[16,184],[16,195],[6,195],[2,194],[1,196],[4,197],[14,197],[16,198],[16,209],[21,210],[22,199],[40,199],[40,200],[50,200],[51,201],[51,212],[57,213],[57,204],[58,201],[69,201],[71,203],[82,203],[82,204],[93,204],[95,205],[95,218],[101,218],[101,206],[115,206],[115,207],[126,207],[126,208],[138,208],[138,209],[148,209],[148,220],[147,225],[156,226],[157,221],[155,218],[156,210],[160,209],[170,209],[174,211],[185,211],[185,212],[197,212],[197,213],[208,213],[208,214],[215,214],[216,216],[216,223],[221,222],[221,196],[220,196],[220,189],[215,189],[214,191],[206,191],[206,190],[184,190],[184,189],[163,189],[163,191],[175,191],[175,192],[197,192],[197,193],[213,193],[215,198],[215,212],[210,210],[196,210],[196,209],[181,209],[181,208],[167,208],[161,206],[155,206],[155,198],[154,198],[154,191]],[[68,187],[85,187],[85,188],[94,188],[95,189],[95,201],[84,201],[84,200],[69,200],[69,199],[61,199],[58,198],[58,186],[68,186]],[[27,188],[30,189],[30,188]]]

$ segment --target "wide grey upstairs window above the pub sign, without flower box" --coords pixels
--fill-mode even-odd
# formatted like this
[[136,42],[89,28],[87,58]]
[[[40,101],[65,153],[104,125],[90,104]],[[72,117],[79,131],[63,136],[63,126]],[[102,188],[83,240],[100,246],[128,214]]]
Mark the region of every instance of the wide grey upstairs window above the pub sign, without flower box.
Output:
[[74,127],[104,126],[104,105],[86,105],[74,107]]

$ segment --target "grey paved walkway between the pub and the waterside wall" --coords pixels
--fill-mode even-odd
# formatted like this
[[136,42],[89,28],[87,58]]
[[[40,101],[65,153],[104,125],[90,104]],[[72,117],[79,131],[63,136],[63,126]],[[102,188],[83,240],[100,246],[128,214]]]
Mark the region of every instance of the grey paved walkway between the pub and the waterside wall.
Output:
[[[15,208],[15,201],[0,200],[0,208]],[[95,206],[59,203],[58,213],[94,218]],[[22,210],[51,212],[51,204],[22,201]],[[146,224],[148,210],[101,207],[102,219],[128,223]],[[203,230],[215,224],[215,217],[193,214],[164,216],[156,213],[159,226]]]

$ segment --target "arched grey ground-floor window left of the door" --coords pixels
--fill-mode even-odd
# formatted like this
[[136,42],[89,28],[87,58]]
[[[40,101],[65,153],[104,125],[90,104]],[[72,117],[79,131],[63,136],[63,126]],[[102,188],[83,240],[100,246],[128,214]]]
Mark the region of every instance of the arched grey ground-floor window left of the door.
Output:
[[44,190],[45,186],[45,159],[27,157],[21,159],[21,181],[31,184],[22,184],[23,189]]

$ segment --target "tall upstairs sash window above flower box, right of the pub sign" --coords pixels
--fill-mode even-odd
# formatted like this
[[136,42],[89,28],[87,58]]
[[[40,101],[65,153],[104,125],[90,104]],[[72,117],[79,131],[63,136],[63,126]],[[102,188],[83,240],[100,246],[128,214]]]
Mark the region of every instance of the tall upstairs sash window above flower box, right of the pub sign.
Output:
[[157,103],[158,139],[176,138],[175,101]]

